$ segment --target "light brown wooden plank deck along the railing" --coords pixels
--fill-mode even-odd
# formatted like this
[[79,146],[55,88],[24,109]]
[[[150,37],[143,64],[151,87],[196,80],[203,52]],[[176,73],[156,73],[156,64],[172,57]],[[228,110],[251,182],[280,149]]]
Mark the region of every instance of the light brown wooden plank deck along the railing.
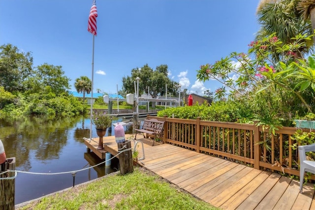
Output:
[[[117,154],[114,137],[104,138],[104,144],[105,149],[116,150]],[[141,145],[138,150],[142,157]],[[171,144],[144,143],[144,150],[145,159],[140,162],[143,167],[223,210],[315,210],[311,183],[303,186],[301,194],[299,181],[277,173]]]

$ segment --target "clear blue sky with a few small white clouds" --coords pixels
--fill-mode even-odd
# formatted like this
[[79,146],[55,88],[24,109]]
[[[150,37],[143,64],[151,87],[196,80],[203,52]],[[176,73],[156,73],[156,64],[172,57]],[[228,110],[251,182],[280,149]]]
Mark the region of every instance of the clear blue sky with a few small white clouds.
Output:
[[[116,93],[133,68],[166,64],[182,89],[203,95],[221,84],[196,80],[200,65],[247,52],[259,29],[259,0],[96,0],[94,91]],[[92,78],[92,0],[1,0],[0,45],[32,52],[34,66]],[[140,81],[141,82],[141,81]]]

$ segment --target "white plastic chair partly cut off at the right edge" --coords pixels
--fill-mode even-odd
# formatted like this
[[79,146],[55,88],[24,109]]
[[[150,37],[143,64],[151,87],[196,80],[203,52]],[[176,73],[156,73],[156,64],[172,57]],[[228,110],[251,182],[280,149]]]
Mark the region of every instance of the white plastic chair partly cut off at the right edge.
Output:
[[299,146],[299,158],[300,158],[300,193],[303,193],[303,183],[305,172],[315,174],[315,161],[306,160],[306,152],[315,151],[315,143]]

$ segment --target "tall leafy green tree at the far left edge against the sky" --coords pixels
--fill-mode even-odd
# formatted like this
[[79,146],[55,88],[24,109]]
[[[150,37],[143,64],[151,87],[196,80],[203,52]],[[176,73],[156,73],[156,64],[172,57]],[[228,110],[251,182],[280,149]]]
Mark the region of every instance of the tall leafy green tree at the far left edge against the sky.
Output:
[[24,91],[24,81],[32,74],[30,52],[21,52],[12,44],[0,46],[0,86],[9,92]]

